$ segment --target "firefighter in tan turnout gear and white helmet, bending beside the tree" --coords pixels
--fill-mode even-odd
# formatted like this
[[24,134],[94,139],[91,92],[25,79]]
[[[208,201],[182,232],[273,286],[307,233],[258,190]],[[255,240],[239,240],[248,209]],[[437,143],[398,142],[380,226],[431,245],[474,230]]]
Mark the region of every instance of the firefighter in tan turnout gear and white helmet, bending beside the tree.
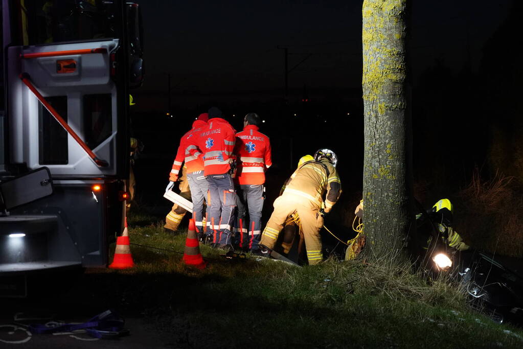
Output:
[[320,149],[314,154],[314,161],[305,162],[294,171],[283,194],[274,202],[274,212],[261,234],[259,255],[269,257],[283,223],[289,215],[297,213],[309,265],[322,261],[320,229],[323,227],[323,216],[331,211],[342,193],[336,162],[337,157],[332,150]]

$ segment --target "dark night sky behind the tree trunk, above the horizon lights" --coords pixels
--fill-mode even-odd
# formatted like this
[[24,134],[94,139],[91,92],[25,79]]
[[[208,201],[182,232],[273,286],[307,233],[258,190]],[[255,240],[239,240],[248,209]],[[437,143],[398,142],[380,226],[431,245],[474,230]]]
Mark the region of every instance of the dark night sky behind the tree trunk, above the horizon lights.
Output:
[[[290,102],[361,86],[360,1],[137,2],[146,62],[145,83],[134,92],[137,111],[166,109],[167,73],[175,109],[282,98],[278,45],[289,48],[289,69],[306,59],[289,74]],[[436,62],[455,71],[470,62],[477,70],[510,3],[412,1],[413,83]]]

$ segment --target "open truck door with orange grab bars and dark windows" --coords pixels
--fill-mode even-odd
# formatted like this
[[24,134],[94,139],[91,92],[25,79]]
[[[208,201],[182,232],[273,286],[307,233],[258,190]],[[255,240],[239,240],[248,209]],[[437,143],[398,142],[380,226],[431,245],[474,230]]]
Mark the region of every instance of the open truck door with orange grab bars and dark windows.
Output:
[[[124,4],[9,4],[16,14],[9,19],[13,41],[6,48],[10,162],[26,163],[29,169],[46,166],[53,178],[126,178]],[[55,120],[54,112],[67,126]]]

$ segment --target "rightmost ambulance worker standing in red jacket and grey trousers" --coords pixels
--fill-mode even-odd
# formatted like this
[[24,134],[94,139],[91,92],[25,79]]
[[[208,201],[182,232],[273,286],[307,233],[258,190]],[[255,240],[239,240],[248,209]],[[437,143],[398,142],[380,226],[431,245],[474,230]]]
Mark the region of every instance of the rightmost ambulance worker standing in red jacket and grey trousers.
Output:
[[[261,119],[256,113],[248,113],[243,119],[243,131],[236,134],[234,154],[237,160],[236,231],[242,250],[257,250],[260,240],[261,209],[264,203],[265,171],[272,165],[269,137],[258,132]],[[249,223],[245,219],[249,210]]]

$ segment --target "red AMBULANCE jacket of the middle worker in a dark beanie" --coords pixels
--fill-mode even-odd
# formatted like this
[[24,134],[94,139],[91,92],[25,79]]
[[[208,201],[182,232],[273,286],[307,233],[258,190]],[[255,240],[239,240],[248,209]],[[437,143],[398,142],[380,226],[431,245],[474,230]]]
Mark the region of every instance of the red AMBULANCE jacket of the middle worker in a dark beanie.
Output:
[[[222,118],[212,118],[208,121],[208,127],[198,132],[198,148],[203,155],[203,167],[205,176],[223,175],[231,169],[231,162],[234,161],[234,144],[236,131],[231,124]],[[192,152],[192,150],[191,150]],[[195,155],[192,152],[191,155]],[[223,160],[220,159],[223,157]]]

